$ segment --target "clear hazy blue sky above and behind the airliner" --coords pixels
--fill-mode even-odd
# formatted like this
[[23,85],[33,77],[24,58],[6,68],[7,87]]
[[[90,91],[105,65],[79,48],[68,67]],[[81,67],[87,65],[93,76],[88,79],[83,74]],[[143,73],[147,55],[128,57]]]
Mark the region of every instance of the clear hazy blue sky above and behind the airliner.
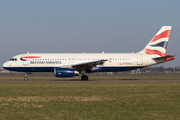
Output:
[[180,66],[180,1],[0,1],[0,65],[21,53],[139,52],[164,25]]

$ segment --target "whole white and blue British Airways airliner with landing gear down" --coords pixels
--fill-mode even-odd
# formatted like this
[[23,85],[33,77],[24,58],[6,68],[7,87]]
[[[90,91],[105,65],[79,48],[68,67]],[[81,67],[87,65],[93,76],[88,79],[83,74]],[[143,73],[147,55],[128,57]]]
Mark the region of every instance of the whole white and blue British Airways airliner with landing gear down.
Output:
[[[163,26],[146,47],[137,53],[29,53],[12,57],[3,68],[19,72],[54,72],[55,77],[87,73],[120,72],[156,65],[175,59],[166,48],[172,26]],[[28,80],[25,75],[24,80]]]

